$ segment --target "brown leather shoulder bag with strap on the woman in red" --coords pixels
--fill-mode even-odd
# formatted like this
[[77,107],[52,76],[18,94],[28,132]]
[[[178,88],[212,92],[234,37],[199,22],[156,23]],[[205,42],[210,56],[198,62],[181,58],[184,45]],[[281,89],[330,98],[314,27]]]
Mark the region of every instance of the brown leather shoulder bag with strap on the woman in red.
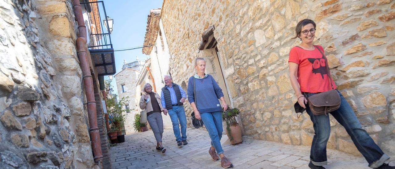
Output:
[[[314,47],[316,47],[316,46],[314,45]],[[328,62],[326,60],[325,55],[324,55],[324,53],[322,53],[320,48],[318,48],[318,47],[316,47],[316,48],[318,49],[318,51],[320,51],[320,53],[322,54],[322,57],[324,57],[325,67],[327,68],[327,71],[328,71],[327,75],[329,76],[328,79],[329,79],[329,83],[332,86],[332,90],[314,94],[312,96],[308,96],[307,101],[308,101],[308,107],[310,108],[313,115],[322,115],[322,114],[327,115],[327,113],[339,109],[340,96],[339,96],[339,93],[337,93],[337,91],[335,89],[333,89],[333,85],[332,85],[332,81],[331,81],[332,80],[331,72],[329,71],[329,66],[328,66]]]

